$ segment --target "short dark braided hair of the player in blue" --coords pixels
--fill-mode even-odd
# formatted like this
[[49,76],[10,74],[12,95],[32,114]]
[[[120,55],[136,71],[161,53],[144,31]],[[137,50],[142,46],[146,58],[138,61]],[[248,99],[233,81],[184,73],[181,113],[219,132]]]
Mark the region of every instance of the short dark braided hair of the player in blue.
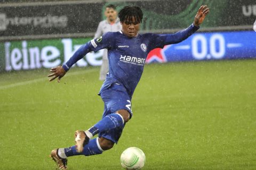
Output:
[[139,6],[125,6],[119,13],[118,17],[121,22],[130,21],[132,22],[132,17],[138,23],[142,22],[143,13]]

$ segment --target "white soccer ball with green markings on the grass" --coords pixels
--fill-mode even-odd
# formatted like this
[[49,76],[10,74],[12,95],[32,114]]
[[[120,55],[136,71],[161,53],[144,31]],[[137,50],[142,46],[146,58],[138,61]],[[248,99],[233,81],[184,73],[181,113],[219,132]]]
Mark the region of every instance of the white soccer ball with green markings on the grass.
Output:
[[121,165],[125,169],[141,169],[145,162],[144,152],[136,147],[125,149],[121,155]]

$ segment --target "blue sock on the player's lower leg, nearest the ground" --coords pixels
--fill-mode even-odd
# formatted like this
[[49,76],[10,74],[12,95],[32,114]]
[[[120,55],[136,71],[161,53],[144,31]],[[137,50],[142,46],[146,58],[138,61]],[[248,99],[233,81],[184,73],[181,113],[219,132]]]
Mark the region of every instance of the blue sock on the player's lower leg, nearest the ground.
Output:
[[[84,150],[81,153],[76,151],[76,146],[72,146],[69,148],[63,148],[63,149],[65,151],[66,157],[75,156],[75,155],[84,155],[84,156],[98,155],[98,154],[102,154],[102,151],[103,151],[99,145],[98,138],[91,139],[89,141],[89,143],[84,146]],[[59,154],[59,156],[63,157],[60,154]]]

